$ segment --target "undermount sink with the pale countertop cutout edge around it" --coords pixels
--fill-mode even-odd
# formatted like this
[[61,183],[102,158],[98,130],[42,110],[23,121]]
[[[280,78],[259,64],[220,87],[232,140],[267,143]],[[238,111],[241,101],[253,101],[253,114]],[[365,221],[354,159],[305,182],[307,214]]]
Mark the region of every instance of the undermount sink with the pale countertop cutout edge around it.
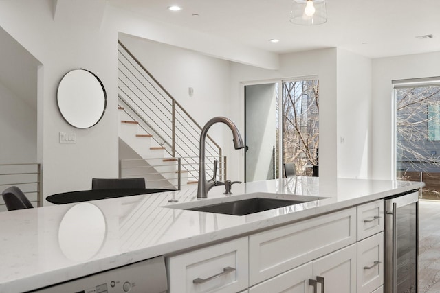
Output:
[[317,196],[295,196],[292,194],[256,192],[253,194],[243,194],[241,196],[212,198],[197,202],[172,204],[166,207],[188,211],[203,211],[206,213],[223,213],[225,215],[249,215],[280,207],[288,207],[294,204],[304,204],[305,202],[320,199],[323,198]]

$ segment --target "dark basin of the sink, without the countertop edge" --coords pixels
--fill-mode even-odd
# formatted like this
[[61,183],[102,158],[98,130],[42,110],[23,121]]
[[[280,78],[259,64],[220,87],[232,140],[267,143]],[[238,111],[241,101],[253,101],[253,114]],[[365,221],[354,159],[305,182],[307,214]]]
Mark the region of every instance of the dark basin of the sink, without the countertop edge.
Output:
[[208,213],[224,213],[226,215],[249,215],[250,213],[259,213],[277,209],[278,207],[287,207],[292,204],[299,204],[305,201],[298,200],[280,200],[278,198],[248,198],[246,200],[236,200],[234,202],[223,202],[203,207],[194,207],[190,211],[206,211]]

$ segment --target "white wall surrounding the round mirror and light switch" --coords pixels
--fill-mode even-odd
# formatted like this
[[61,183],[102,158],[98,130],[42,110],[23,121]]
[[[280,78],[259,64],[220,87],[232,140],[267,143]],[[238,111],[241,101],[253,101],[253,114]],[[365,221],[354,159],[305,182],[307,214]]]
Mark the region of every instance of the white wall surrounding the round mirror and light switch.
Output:
[[[0,26],[43,64],[39,70],[38,157],[43,161],[44,196],[89,189],[94,176],[118,176],[116,34],[104,30],[100,23],[89,21],[87,8],[63,10],[58,6],[57,12],[54,3],[52,0],[0,2]],[[61,16],[54,18],[56,13]],[[69,13],[73,17],[63,17]],[[102,121],[86,130],[69,126],[56,106],[58,82],[67,71],[78,68],[96,73],[108,97]],[[58,143],[61,131],[75,132],[77,143]]]

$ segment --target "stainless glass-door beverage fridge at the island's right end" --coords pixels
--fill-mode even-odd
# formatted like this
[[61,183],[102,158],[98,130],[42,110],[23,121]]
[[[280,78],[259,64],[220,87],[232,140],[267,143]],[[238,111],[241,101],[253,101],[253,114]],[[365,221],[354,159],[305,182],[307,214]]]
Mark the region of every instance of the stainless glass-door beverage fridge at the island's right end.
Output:
[[417,292],[419,191],[385,198],[384,292]]

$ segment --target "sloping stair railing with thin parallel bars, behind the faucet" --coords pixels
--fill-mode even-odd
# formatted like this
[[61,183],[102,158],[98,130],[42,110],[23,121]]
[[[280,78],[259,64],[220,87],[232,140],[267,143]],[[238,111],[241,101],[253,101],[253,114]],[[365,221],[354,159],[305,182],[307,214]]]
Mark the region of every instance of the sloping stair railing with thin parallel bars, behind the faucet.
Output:
[[[118,41],[118,97],[134,121],[173,158],[181,158],[191,176],[198,178],[199,137],[201,126],[164,89],[151,73]],[[178,142],[178,143],[177,143]],[[214,160],[224,165],[219,180],[226,180],[226,167],[220,146],[208,135],[206,172],[212,174]],[[209,176],[209,174],[208,174]]]

